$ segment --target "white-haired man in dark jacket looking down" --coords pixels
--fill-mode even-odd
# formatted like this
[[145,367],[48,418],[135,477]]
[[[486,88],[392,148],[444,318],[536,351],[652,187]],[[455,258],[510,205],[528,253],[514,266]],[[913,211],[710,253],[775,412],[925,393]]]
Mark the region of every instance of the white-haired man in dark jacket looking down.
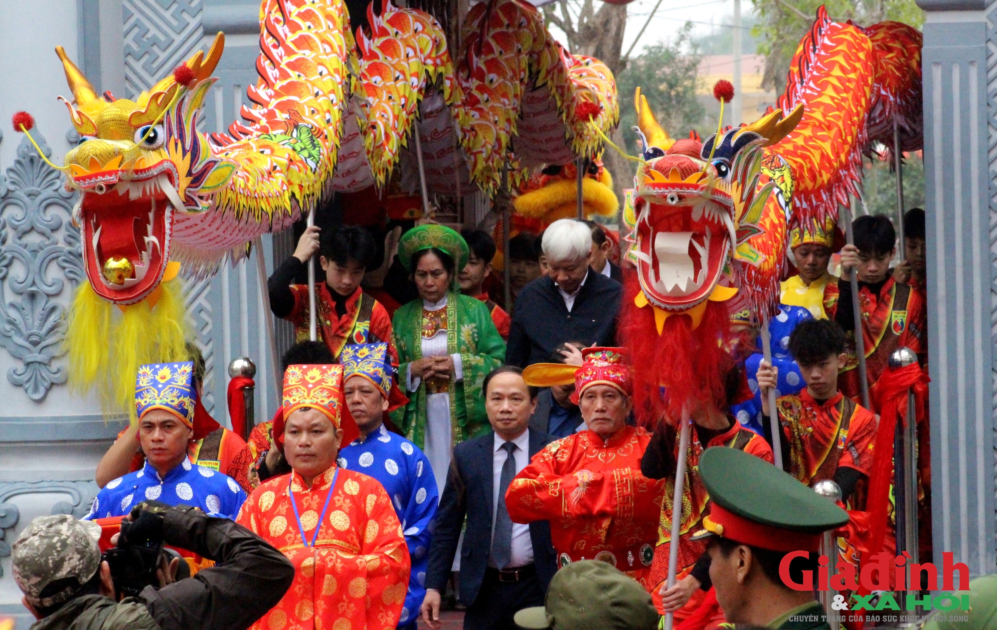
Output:
[[616,345],[616,315],[623,287],[589,268],[592,233],[581,221],[562,218],[543,232],[549,271],[525,287],[512,307],[507,365],[542,363],[567,341]]

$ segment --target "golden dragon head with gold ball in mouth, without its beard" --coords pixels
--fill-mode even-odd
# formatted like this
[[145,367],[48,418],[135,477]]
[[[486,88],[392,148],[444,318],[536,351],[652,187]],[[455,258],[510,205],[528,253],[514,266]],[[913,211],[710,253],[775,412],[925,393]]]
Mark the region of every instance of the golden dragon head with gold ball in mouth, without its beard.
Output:
[[87,278],[105,300],[135,304],[175,275],[177,265],[168,264],[173,213],[205,210],[205,195],[234,171],[234,162],[212,157],[196,130],[223,47],[219,33],[206,57],[198,51],[135,101],[99,97],[56,48],[74,97],[63,101],[80,135],[66,154],[66,186],[81,193],[73,217],[83,231]]

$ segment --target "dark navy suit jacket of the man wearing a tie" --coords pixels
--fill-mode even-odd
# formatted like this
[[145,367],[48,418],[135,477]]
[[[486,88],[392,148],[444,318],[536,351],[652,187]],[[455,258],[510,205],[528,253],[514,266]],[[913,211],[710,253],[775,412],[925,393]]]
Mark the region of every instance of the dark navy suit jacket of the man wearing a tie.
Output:
[[[532,458],[553,438],[536,431],[529,432],[529,457]],[[493,448],[495,434],[489,432],[454,447],[454,459],[447,472],[447,484],[437,507],[430,561],[426,570],[426,588],[441,592],[447,587],[450,569],[457,553],[457,543],[465,516],[468,526],[461,550],[461,602],[470,606],[478,597],[485,578],[492,548],[492,508],[495,491]],[[547,584],[557,570],[556,553],[550,542],[550,523],[536,520],[529,523],[529,539],[533,545],[536,575],[546,592]]]

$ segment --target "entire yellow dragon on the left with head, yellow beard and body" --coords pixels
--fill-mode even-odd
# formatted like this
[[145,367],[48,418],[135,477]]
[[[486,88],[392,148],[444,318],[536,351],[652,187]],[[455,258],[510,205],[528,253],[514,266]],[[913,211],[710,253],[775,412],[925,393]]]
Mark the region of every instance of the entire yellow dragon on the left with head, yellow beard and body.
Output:
[[385,0],[369,22],[355,40],[342,0],[263,0],[253,106],[228,134],[196,127],[221,33],[134,101],[98,95],[57,49],[82,138],[65,170],[89,280],[69,314],[73,385],[127,409],[139,365],[185,358],[181,264],[206,277],[324,195],[383,185],[418,158],[417,120],[429,188],[444,194],[469,182],[491,191],[506,164],[521,181],[530,167],[594,156],[588,121],[606,133],[618,120],[608,69],[564,51],[522,0],[472,9],[456,68],[429,14]]

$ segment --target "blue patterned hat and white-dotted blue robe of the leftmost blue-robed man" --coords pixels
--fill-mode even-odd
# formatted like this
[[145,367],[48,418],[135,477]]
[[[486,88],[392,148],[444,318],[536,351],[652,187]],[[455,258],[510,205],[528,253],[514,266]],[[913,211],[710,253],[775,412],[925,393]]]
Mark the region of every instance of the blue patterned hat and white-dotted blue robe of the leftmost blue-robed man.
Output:
[[[196,397],[193,364],[189,361],[139,368],[135,401],[140,422],[146,412],[164,409],[192,427]],[[105,485],[84,518],[124,516],[134,504],[147,499],[170,505],[193,505],[212,516],[235,518],[246,494],[232,477],[193,465],[188,458],[183,458],[163,478],[146,462],[141,471],[130,472]]]

